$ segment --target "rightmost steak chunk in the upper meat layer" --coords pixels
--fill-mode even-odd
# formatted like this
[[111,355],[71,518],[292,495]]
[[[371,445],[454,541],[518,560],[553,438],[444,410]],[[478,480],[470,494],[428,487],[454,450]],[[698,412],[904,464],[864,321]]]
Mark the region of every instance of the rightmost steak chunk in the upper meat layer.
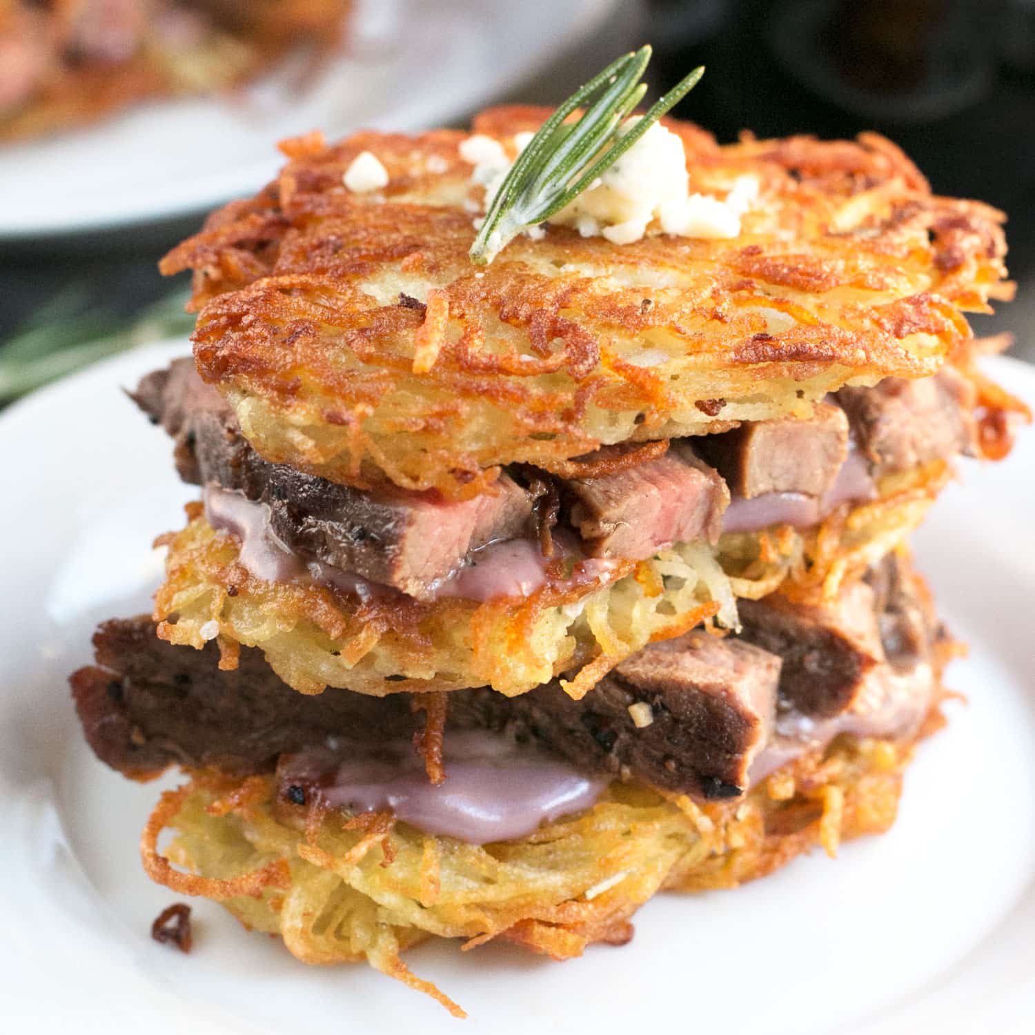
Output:
[[952,366],[917,381],[885,378],[873,388],[841,388],[836,397],[878,473],[975,452],[976,393]]

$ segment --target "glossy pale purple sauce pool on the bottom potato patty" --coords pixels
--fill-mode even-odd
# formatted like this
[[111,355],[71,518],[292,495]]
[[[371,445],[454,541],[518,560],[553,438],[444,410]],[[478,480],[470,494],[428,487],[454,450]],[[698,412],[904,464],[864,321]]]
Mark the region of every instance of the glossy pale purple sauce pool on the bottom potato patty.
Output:
[[419,830],[470,845],[524,837],[543,821],[588,808],[610,782],[483,730],[450,732],[445,768],[445,782],[436,786],[409,741],[350,741],[282,756],[277,778],[282,794],[296,785],[318,804],[391,810]]

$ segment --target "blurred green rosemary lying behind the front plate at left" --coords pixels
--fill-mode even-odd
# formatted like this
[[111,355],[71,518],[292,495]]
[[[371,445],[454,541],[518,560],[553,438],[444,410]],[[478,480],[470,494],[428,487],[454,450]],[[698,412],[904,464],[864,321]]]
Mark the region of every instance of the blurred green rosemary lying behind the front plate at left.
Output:
[[59,292],[0,343],[0,403],[136,345],[189,333],[188,297],[172,292],[127,319],[91,305],[82,285]]

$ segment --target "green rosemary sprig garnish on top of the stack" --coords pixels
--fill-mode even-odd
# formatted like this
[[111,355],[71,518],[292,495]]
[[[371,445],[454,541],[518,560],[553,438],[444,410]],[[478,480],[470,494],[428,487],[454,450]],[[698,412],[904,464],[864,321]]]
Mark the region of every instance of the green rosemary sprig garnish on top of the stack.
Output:
[[[643,118],[623,127],[647,92],[640,80],[650,56],[650,47],[641,47],[613,61],[543,122],[493,198],[471,245],[471,262],[491,263],[526,227],[543,223],[568,205],[693,89],[705,71],[704,66],[694,68]],[[584,106],[576,121],[565,122]]]

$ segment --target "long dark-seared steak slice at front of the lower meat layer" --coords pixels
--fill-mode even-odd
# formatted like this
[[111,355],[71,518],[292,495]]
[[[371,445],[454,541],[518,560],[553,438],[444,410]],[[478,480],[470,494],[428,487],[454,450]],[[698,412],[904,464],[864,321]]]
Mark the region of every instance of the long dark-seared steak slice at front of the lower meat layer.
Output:
[[[376,743],[418,728],[409,694],[297,693],[248,648],[236,671],[221,672],[214,644],[171,646],[147,618],[106,622],[94,645],[96,664],[72,675],[72,694],[94,752],[129,775],[174,764],[268,771],[280,753],[328,735]],[[630,658],[583,701],[557,682],[518,698],[452,691],[449,729],[506,731],[585,770],[730,797],[769,736],[778,674],[779,659],[759,648],[691,632]],[[629,712],[639,704],[647,726]]]

